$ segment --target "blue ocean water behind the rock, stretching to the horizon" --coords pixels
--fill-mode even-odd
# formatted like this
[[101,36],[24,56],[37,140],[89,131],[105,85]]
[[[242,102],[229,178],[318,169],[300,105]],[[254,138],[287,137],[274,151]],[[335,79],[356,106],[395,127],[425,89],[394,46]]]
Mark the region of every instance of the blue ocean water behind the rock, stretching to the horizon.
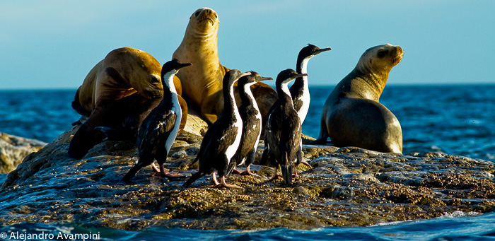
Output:
[[[318,137],[333,86],[310,88],[303,133]],[[0,90],[0,131],[50,142],[79,119],[76,90]],[[441,151],[495,160],[495,85],[386,86],[380,102],[402,127],[403,153]]]

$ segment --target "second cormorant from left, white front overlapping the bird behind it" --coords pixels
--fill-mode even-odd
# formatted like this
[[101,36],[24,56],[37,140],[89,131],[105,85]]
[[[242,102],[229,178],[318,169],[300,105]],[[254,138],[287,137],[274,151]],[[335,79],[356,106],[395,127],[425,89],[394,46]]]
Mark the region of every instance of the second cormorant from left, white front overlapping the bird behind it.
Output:
[[[235,167],[232,158],[237,152],[243,132],[243,121],[235,104],[233,84],[239,78],[249,74],[251,73],[243,74],[237,69],[232,69],[223,77],[223,112],[204,134],[199,153],[193,161],[195,163],[199,160],[199,170],[184,183],[184,187],[189,187],[202,175],[212,174],[216,185],[240,188],[236,185],[226,184],[225,176]],[[216,180],[216,173],[221,178],[220,184]]]

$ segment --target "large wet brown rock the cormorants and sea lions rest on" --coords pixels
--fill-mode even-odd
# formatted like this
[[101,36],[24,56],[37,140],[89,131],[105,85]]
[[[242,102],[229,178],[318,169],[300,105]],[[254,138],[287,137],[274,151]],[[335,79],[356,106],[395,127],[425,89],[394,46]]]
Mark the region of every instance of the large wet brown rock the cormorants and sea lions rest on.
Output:
[[[31,153],[0,189],[0,224],[81,223],[126,230],[153,226],[197,229],[318,228],[373,225],[495,210],[495,165],[443,153],[397,155],[361,148],[303,146],[313,166],[298,167],[290,187],[257,176],[229,176],[243,189],[219,189],[203,177],[188,189],[142,169],[134,184],[121,178],[136,162],[129,141],[104,141],[81,160],[67,157],[71,135]],[[190,175],[201,136],[184,132],[166,168]],[[260,158],[263,144],[258,147]]]

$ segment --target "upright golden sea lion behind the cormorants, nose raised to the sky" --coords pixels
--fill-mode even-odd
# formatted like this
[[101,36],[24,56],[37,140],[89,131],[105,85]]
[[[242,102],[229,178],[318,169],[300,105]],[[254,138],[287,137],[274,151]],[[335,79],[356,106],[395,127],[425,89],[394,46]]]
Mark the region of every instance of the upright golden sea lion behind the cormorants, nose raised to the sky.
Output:
[[[199,107],[201,116],[209,124],[215,122],[223,111],[222,81],[230,70],[219,61],[218,33],[219,17],[216,12],[211,8],[199,8],[192,13],[184,38],[173,53],[174,59],[192,63],[190,68],[177,74],[182,83],[182,96]],[[276,92],[264,83],[256,83],[251,89],[264,121],[277,99]],[[237,83],[235,99],[240,100]]]

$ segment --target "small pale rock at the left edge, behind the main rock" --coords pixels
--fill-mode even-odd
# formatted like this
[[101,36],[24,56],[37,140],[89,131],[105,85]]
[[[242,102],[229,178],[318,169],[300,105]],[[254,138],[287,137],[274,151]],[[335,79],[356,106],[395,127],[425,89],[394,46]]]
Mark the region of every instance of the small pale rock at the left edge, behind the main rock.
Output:
[[16,169],[26,155],[39,151],[47,143],[0,132],[0,173]]

